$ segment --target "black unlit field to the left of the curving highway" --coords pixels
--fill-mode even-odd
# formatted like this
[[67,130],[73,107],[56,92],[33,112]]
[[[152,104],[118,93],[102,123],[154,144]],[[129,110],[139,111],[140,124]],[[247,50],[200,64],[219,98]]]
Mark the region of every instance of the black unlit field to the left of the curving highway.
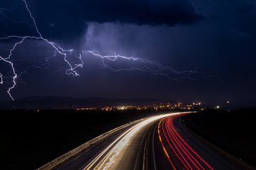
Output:
[[36,169],[92,138],[165,111],[0,111],[1,169]]

